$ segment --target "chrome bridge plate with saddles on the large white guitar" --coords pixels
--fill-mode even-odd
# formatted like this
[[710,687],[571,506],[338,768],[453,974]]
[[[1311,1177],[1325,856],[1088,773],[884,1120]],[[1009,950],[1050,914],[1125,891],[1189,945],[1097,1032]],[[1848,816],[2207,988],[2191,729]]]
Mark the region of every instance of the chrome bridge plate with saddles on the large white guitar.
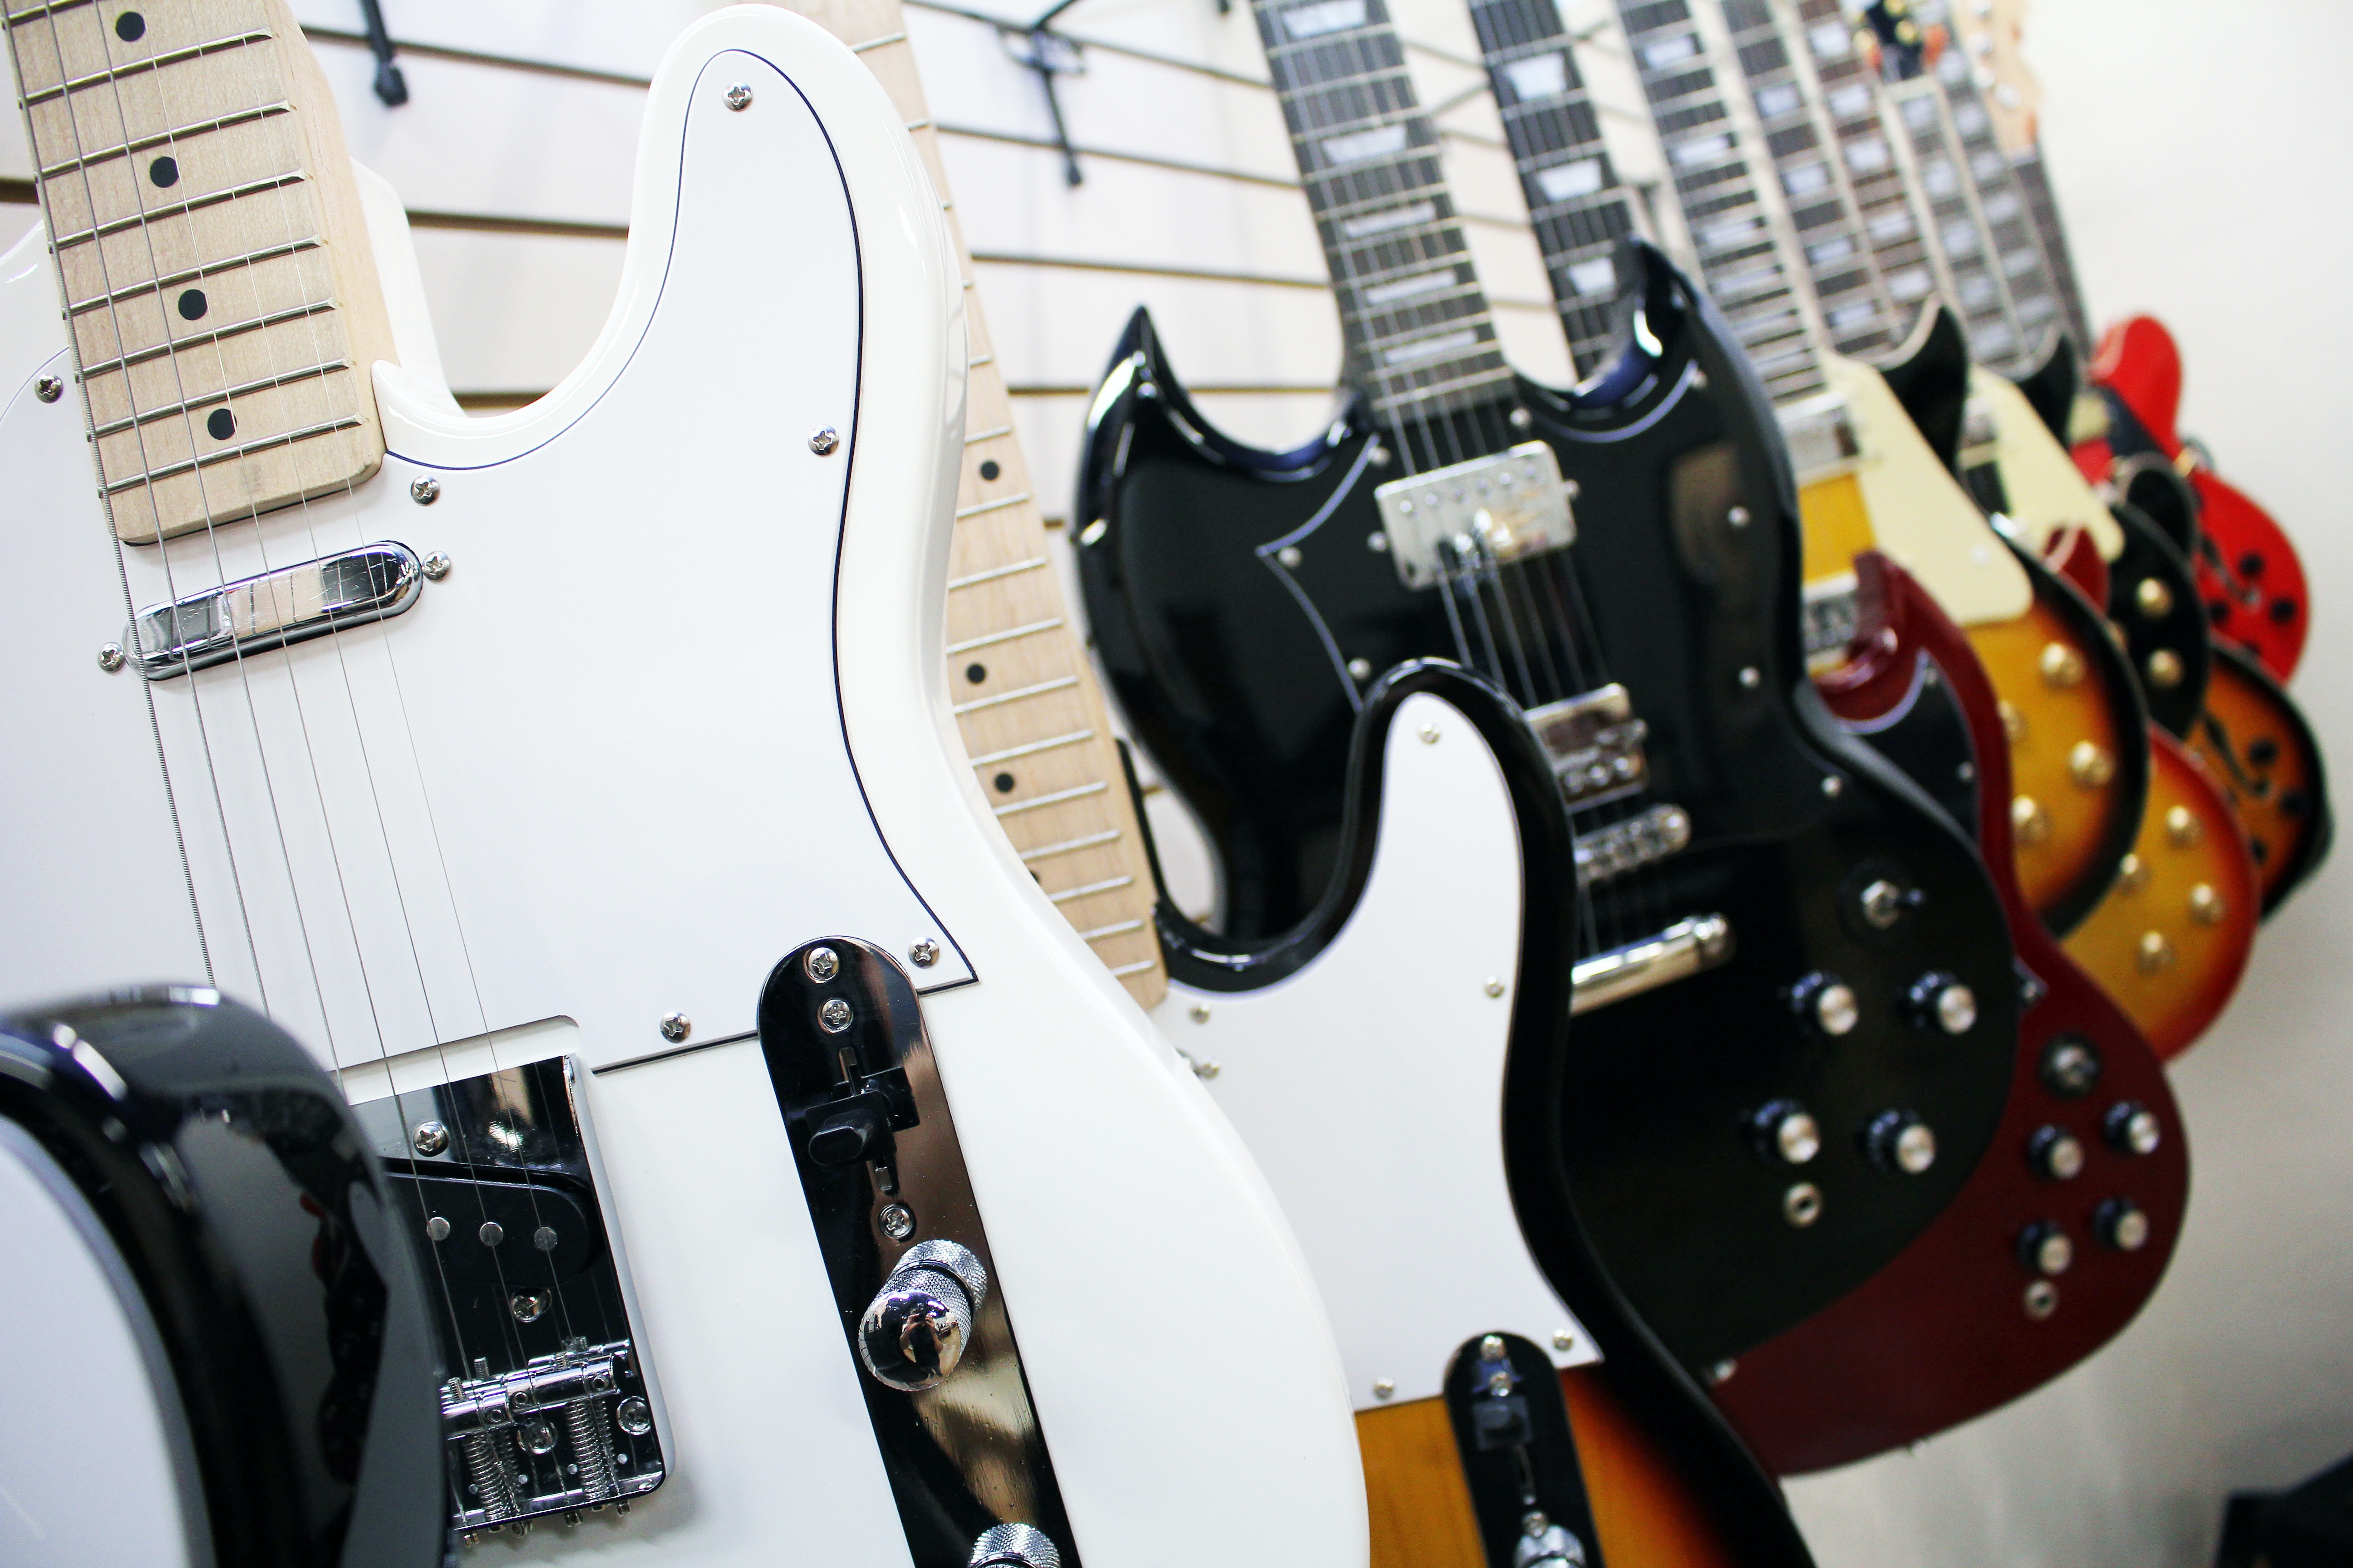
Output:
[[353,1107],[440,1288],[442,1450],[468,1540],[626,1514],[668,1474],[576,1086],[562,1056]]

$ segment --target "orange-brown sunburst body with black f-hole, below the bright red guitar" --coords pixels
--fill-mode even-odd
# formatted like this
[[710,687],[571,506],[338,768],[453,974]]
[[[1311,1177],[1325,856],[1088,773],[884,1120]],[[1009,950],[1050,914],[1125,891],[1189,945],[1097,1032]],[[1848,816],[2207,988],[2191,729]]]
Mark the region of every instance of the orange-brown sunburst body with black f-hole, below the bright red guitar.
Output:
[[2217,642],[2188,750],[2221,783],[2247,830],[2271,917],[2313,875],[2334,837],[2320,741],[2271,670],[2235,644]]

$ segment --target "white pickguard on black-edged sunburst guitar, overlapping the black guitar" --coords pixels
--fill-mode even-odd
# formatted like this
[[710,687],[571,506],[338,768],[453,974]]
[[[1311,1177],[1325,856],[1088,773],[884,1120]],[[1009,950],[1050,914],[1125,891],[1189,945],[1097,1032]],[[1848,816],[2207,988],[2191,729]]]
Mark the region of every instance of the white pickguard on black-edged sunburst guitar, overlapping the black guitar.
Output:
[[1153,1013],[1195,1063],[1217,1063],[1209,1095],[1299,1232],[1360,1410],[1384,1403],[1379,1382],[1391,1399],[1435,1396],[1461,1342],[1499,1328],[1560,1366],[1595,1356],[1529,1260],[1504,1180],[1520,971],[1504,773],[1435,696],[1400,705],[1386,769],[1372,879],[1339,938],[1280,985],[1172,985]]

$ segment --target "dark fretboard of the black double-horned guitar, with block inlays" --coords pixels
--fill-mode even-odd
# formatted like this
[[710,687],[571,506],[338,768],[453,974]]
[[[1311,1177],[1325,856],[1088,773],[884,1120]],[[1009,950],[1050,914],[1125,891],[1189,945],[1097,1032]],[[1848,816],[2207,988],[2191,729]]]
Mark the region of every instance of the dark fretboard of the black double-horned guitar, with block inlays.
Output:
[[1386,7],[1254,0],[1252,12],[1332,268],[1344,381],[1402,425],[1494,400],[1511,369]]

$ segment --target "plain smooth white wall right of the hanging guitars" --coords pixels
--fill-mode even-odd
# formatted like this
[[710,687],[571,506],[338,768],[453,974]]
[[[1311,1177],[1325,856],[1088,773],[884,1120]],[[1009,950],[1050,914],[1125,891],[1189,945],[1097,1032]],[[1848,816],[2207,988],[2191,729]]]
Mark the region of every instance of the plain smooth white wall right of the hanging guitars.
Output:
[[[2294,696],[2353,769],[2353,7],[2038,0],[2026,52],[2092,313],[2174,329],[2184,428],[2294,534],[2315,602]],[[1824,1568],[2209,1563],[2224,1493],[2353,1450],[2348,952],[2341,849],[2174,1067],[2191,1213],[2141,1321],[1918,1453],[1793,1486]]]

